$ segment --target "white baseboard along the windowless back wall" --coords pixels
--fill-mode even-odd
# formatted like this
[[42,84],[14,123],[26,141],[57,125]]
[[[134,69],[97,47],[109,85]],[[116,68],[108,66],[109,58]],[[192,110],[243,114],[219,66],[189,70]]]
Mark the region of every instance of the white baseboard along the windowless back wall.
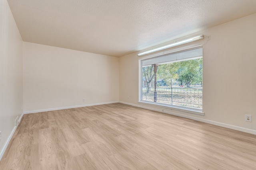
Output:
[[51,109],[32,110],[32,111],[25,111],[24,114],[39,113],[39,112],[44,112],[44,111],[62,110],[62,109],[73,109],[73,108],[78,108],[78,107],[97,106],[97,105],[102,105],[102,104],[113,104],[113,103],[119,103],[119,102],[118,101],[105,102],[105,103],[86,104],[86,105],[79,105],[79,106],[67,106],[67,107],[57,107],[57,108],[51,108]]

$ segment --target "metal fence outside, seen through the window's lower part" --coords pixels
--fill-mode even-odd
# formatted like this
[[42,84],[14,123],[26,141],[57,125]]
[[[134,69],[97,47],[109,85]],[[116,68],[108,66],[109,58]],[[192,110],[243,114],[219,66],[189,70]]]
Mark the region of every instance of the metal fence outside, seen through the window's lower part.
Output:
[[[156,92],[158,103],[202,109],[202,88],[158,87]],[[142,88],[142,100],[154,102],[154,88]]]

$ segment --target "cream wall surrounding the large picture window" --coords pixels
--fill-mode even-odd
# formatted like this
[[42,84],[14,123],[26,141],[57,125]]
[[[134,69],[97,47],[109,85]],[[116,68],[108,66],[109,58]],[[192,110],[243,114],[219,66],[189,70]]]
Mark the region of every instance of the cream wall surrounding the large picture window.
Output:
[[[204,39],[166,50],[170,52],[203,45],[203,111],[205,115],[194,115],[166,108],[164,110],[183,117],[233,129],[241,130],[242,128],[244,131],[256,133],[255,30],[256,14],[188,36],[210,35],[208,41]],[[166,51],[158,53],[162,54]],[[160,106],[138,103],[138,60],[142,57],[138,57],[137,54],[120,57],[119,99],[121,102],[135,106],[162,110]],[[245,114],[252,115],[252,122],[244,121]]]

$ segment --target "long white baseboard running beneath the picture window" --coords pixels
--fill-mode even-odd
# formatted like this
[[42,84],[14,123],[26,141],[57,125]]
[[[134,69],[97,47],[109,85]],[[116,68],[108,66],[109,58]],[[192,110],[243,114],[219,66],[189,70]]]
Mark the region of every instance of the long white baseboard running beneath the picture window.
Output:
[[170,114],[170,115],[176,115],[176,116],[180,116],[180,117],[185,117],[185,118],[188,118],[188,119],[192,119],[192,120],[196,120],[196,121],[201,121],[201,122],[204,122],[204,123],[209,123],[209,124],[212,124],[212,125],[226,127],[226,128],[229,128],[229,129],[234,129],[234,130],[238,130],[238,131],[242,131],[242,132],[251,133],[251,134],[256,135],[256,130],[246,129],[244,127],[229,125],[229,124],[226,124],[226,123],[220,123],[220,122],[217,122],[217,121],[211,121],[211,120],[207,120],[207,119],[201,119],[201,118],[198,118],[198,117],[193,117],[193,116],[189,116],[189,115],[183,115],[183,114],[175,113],[175,112],[172,112],[172,111],[166,111],[165,110],[163,112],[162,109],[156,109],[156,108],[151,108],[151,107],[146,107],[146,106],[140,106],[140,105],[130,104],[130,103],[126,103],[126,102],[119,102],[119,103],[127,104],[127,105],[130,105],[130,106],[135,106],[135,107],[140,107],[140,108],[144,108],[144,109],[159,111],[159,112],[167,113],[167,114]]

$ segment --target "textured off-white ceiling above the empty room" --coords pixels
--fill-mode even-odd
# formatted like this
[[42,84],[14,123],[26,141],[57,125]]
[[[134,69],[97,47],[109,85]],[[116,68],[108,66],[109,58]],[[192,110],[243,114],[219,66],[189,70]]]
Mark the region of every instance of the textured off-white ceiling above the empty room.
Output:
[[256,0],[8,0],[23,41],[120,57],[256,13]]

